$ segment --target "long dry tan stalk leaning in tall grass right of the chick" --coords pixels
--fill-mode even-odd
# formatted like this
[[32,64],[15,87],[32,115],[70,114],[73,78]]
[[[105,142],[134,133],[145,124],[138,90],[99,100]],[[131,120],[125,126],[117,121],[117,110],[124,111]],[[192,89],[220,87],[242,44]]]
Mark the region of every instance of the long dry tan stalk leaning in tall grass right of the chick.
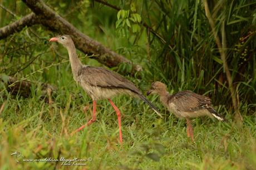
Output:
[[219,49],[219,53],[220,53],[220,57],[221,60],[223,61],[223,67],[224,67],[224,71],[226,73],[227,79],[228,79],[228,84],[229,84],[229,90],[231,93],[231,97],[232,97],[232,103],[233,103],[233,107],[235,109],[235,117],[239,118],[239,120],[237,119],[237,121],[241,122],[243,121],[243,117],[241,116],[239,109],[238,109],[238,103],[237,103],[237,98],[236,98],[236,92],[234,91],[234,87],[233,87],[233,83],[232,83],[232,77],[231,74],[229,72],[229,68],[228,68],[228,63],[226,60],[226,53],[225,53],[225,49],[227,49],[227,45],[226,45],[226,37],[225,37],[225,21],[223,21],[222,23],[222,27],[221,27],[221,35],[222,35],[222,46],[221,46],[221,42],[218,36],[218,33],[215,30],[215,26],[214,26],[214,21],[213,18],[211,17],[211,13],[208,7],[208,3],[206,0],[203,0],[204,2],[204,8],[205,8],[205,15],[208,18],[208,21],[210,23],[210,27],[213,31],[213,35],[216,41],[216,44],[218,46]]

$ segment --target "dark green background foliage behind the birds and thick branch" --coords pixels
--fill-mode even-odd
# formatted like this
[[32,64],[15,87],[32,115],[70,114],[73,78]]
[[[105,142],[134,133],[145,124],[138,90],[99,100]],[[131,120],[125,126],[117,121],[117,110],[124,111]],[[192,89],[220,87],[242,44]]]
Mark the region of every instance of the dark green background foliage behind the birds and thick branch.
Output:
[[[105,4],[96,1],[46,3],[83,33],[141,64],[144,71],[137,78],[141,79],[138,83],[142,89],[148,88],[152,81],[163,81],[174,92],[190,89],[207,94],[215,105],[232,106],[223,62],[200,1],[108,1],[129,11],[125,19],[130,24],[117,28],[118,11]],[[21,1],[3,1],[3,6],[12,13],[1,10],[1,27],[30,11]],[[209,1],[209,8],[219,37],[221,22],[225,22],[227,62],[239,106],[248,104],[253,109],[256,103],[255,3]],[[132,14],[139,14],[141,23],[133,22]],[[142,23],[154,29],[165,42]],[[134,31],[134,24],[140,29]],[[61,58],[47,53],[47,38],[51,34],[43,26],[33,26],[3,39],[1,72],[22,77],[31,67],[60,62]],[[119,67],[119,72],[131,71],[125,64]],[[42,75],[43,81],[52,83],[46,78],[49,76],[46,72]]]

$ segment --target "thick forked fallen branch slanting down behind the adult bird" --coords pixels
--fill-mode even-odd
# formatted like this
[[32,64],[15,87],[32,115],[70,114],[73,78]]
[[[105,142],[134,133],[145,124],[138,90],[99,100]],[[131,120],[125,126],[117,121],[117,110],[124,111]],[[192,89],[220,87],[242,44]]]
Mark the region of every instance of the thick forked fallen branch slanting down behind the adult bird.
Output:
[[[24,27],[30,27],[34,24],[42,24],[48,29],[62,34],[69,34],[76,48],[85,54],[99,54],[98,57],[92,57],[108,67],[116,67],[120,63],[132,64],[129,59],[121,56],[120,54],[111,51],[110,49],[103,46],[101,43],[93,40],[86,36],[82,32],[78,31],[77,28],[72,26],[71,23],[67,22],[64,18],[58,15],[50,7],[48,7],[41,0],[22,0],[26,5],[31,8],[33,13],[19,19],[18,21],[9,24],[6,27],[0,29],[0,39],[6,38],[7,36],[21,31]],[[141,66],[132,64],[135,71],[141,71]]]

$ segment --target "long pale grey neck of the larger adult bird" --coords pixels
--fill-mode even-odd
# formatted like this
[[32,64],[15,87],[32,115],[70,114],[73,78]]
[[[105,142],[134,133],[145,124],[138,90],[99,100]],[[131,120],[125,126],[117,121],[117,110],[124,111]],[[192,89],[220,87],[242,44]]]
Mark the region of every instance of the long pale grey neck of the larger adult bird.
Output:
[[77,57],[75,44],[73,43],[70,44],[70,46],[67,47],[67,51],[68,51],[68,56],[70,58],[72,73],[76,80],[78,76],[78,72],[82,68],[82,63],[80,59]]

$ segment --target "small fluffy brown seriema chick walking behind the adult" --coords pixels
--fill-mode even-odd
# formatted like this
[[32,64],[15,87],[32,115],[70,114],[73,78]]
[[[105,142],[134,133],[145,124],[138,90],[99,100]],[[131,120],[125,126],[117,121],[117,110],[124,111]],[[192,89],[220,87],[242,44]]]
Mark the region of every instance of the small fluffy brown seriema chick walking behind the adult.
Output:
[[192,141],[194,141],[194,132],[189,118],[210,116],[215,117],[219,121],[224,121],[224,118],[211,106],[211,99],[209,97],[201,96],[191,91],[181,91],[171,95],[168,93],[166,85],[161,82],[152,83],[147,95],[150,93],[158,94],[161,103],[171,113],[174,113],[176,117],[186,119],[188,124],[186,132]]

